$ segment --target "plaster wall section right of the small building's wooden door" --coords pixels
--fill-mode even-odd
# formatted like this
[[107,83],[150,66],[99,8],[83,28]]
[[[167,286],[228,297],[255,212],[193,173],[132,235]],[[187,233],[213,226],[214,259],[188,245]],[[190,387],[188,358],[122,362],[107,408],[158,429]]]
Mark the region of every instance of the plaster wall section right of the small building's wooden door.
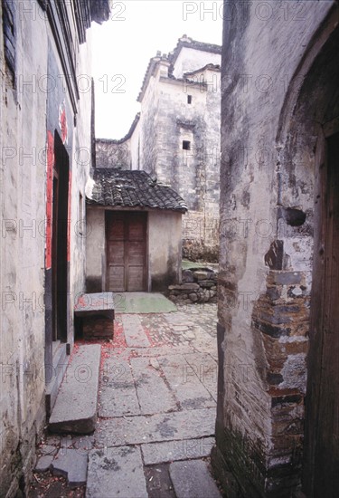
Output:
[[182,215],[149,211],[148,254],[150,291],[164,291],[181,280]]

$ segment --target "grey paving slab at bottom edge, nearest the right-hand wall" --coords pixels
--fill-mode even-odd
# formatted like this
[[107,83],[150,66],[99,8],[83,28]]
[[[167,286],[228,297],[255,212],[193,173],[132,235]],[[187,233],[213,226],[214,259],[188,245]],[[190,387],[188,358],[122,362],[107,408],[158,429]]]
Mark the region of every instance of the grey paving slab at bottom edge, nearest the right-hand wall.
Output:
[[221,493],[203,460],[174,462],[170,475],[176,498],[221,498]]

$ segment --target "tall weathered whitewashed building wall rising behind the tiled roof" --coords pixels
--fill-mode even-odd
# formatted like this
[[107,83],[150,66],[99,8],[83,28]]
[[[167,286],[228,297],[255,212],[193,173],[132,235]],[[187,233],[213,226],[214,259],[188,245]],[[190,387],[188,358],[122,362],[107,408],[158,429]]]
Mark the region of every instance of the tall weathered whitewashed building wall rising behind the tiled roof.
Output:
[[[206,53],[198,55],[192,62],[195,67],[208,58]],[[183,81],[167,73],[168,62],[161,60],[148,82],[132,168],[155,174],[184,197],[189,208],[183,217],[184,255],[217,261],[221,75],[206,68]],[[183,148],[184,141],[190,142],[189,149]]]

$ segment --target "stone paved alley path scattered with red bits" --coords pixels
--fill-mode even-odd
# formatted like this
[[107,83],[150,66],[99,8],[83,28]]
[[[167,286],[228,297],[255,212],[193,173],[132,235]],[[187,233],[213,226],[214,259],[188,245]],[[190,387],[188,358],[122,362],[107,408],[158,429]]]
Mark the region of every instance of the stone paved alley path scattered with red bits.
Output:
[[[94,434],[47,436],[42,463],[55,474],[69,467],[74,483],[82,475],[87,498],[195,498],[190,479],[208,474],[214,443],[216,359],[215,304],[117,315],[114,340],[101,342]],[[206,498],[219,496],[202,480]]]

